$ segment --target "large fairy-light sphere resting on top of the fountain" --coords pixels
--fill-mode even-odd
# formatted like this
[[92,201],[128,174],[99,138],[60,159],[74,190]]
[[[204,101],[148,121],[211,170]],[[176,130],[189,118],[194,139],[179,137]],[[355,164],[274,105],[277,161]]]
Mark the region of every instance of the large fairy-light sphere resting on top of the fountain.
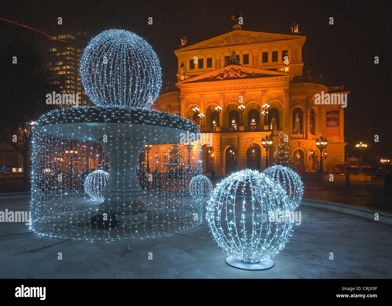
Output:
[[159,59],[151,45],[118,29],[91,40],[80,62],[80,75],[97,106],[149,109],[162,85]]

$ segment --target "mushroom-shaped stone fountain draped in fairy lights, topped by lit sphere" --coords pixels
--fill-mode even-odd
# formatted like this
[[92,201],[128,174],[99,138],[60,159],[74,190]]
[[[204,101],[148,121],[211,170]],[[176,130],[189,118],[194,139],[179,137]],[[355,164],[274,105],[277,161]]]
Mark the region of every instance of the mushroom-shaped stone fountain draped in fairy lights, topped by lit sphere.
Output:
[[[184,133],[200,131],[180,116],[150,109],[162,84],[152,47],[129,31],[104,31],[87,45],[80,74],[96,106],[56,109],[34,125],[31,229],[116,240],[200,225],[203,218],[194,216],[201,216],[202,204],[187,192],[200,173],[200,141],[190,152],[180,143]],[[85,190],[85,179],[97,170],[109,173],[107,182],[95,180],[101,185]],[[99,201],[90,189],[99,190]]]

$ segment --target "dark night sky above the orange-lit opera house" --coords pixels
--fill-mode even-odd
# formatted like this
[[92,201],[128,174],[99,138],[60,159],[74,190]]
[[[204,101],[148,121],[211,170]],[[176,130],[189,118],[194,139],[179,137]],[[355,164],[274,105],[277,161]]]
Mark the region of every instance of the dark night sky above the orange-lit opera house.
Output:
[[[289,34],[290,25],[298,22],[301,35],[307,36],[303,74],[323,74],[325,85],[345,85],[351,92],[345,109],[346,152],[356,154],[355,143],[363,140],[369,145],[364,161],[392,158],[389,1],[2,1],[0,12],[2,18],[53,36],[86,32],[90,40],[107,29],[132,31],[158,54],[163,86],[176,81],[173,51],[182,36],[191,45],[232,31],[232,13],[243,14],[241,28],[248,31]],[[334,25],[328,24],[330,17]],[[12,30],[0,22],[2,37]],[[374,56],[379,56],[378,65]]]

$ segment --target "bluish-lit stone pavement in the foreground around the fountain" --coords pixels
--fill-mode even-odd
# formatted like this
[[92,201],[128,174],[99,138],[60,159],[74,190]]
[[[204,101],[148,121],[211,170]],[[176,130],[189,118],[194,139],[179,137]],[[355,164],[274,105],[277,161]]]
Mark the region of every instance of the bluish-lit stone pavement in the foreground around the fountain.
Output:
[[[1,201],[0,210],[28,206],[28,199],[9,199]],[[53,239],[27,233],[24,223],[0,223],[0,278],[392,277],[390,225],[310,206],[299,210],[301,225],[294,225],[290,242],[264,271],[227,265],[205,220],[187,232],[132,239],[131,252],[125,241]]]

